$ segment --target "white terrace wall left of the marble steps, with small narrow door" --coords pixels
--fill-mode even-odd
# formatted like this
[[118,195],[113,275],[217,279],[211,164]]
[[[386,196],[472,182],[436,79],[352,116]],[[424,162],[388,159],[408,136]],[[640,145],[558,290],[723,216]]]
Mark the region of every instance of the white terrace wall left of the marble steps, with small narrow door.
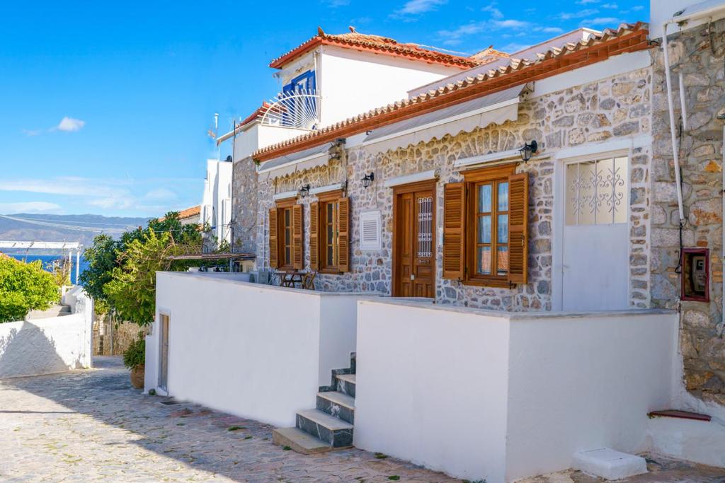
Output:
[[[331,370],[349,366],[360,297],[159,272],[157,311],[170,316],[169,394],[294,426],[297,411],[315,407]],[[159,391],[158,337],[154,323],[146,338],[146,391]]]

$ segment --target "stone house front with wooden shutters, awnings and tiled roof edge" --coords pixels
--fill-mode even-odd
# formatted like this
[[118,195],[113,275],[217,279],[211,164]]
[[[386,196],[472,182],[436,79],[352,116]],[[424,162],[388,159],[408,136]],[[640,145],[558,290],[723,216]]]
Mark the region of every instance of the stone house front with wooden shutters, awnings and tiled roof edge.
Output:
[[[473,67],[465,80],[444,79],[428,93],[261,148],[253,154],[265,173],[257,190],[257,266],[318,271],[319,290],[479,308],[647,307],[646,38],[646,25],[637,24],[547,43],[536,60]],[[537,150],[522,161],[520,149],[532,141]],[[311,156],[319,161],[290,171]],[[274,169],[281,162],[285,169]],[[576,198],[581,180],[605,172],[614,177],[600,183],[598,198],[594,188]],[[518,227],[505,201],[517,202],[515,176],[527,180],[528,193],[518,201],[527,220]],[[447,203],[454,193],[447,187],[460,182],[466,211],[455,216],[465,221],[452,228],[444,220],[456,201]],[[567,191],[559,200],[557,185]],[[491,209],[494,198],[501,203]],[[477,203],[489,211],[475,211]],[[575,228],[586,203],[594,203],[600,221],[592,215]],[[574,214],[573,222],[560,222],[556,210],[569,221]],[[607,249],[621,263],[602,264],[597,250],[612,237]],[[602,287],[597,297],[587,294],[582,277]]]

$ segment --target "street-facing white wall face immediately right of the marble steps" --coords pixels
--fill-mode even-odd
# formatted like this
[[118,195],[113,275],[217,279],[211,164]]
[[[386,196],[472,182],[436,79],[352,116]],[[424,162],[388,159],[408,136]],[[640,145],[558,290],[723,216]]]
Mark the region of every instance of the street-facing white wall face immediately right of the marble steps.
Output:
[[508,324],[358,303],[355,446],[467,479],[504,477]]

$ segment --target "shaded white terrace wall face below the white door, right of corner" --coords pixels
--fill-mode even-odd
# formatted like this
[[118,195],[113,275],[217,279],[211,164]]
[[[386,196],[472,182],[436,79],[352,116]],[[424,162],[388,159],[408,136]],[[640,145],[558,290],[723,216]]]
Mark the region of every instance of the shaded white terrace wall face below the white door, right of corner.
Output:
[[510,319],[507,476],[566,469],[579,450],[647,449],[668,408],[675,314]]

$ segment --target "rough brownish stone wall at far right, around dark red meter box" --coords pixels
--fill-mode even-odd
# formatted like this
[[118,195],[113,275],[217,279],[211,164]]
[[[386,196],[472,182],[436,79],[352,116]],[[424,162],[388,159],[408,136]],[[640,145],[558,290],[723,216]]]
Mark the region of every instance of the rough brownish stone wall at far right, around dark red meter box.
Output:
[[[711,35],[712,34],[712,35]],[[687,389],[725,404],[725,340],[722,319],[722,159],[725,108],[725,20],[669,37],[676,119],[681,117],[682,72],[687,130],[679,136],[687,224],[685,248],[710,248],[710,302],[682,302],[680,343]],[[662,49],[653,50],[652,301],[676,307],[680,295],[679,214],[670,138]],[[678,132],[679,132],[679,126]]]

